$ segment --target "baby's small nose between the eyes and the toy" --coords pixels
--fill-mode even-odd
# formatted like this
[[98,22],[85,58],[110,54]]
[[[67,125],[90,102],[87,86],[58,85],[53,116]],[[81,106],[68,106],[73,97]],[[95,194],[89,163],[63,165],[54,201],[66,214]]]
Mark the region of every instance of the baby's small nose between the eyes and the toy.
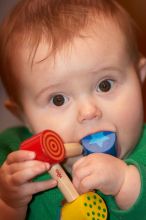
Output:
[[84,99],[79,104],[78,121],[83,122],[94,118],[101,118],[102,111],[94,99]]

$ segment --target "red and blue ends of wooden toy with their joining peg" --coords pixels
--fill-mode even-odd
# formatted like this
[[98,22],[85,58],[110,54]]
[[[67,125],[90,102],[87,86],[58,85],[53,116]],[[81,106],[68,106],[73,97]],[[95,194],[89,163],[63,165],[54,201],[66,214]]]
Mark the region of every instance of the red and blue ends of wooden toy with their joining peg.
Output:
[[36,160],[50,164],[60,163],[65,158],[91,153],[107,153],[113,156],[116,151],[116,134],[111,131],[101,131],[88,135],[79,143],[63,143],[62,138],[52,130],[44,130],[32,136],[20,145],[22,150],[36,153]]

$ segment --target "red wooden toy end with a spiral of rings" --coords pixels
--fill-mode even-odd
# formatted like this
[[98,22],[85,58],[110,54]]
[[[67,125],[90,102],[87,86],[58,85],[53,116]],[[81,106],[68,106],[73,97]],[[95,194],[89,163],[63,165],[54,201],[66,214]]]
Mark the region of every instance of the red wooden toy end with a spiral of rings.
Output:
[[52,130],[45,130],[27,139],[20,145],[21,150],[34,151],[36,160],[60,163],[65,158],[65,148],[61,137]]

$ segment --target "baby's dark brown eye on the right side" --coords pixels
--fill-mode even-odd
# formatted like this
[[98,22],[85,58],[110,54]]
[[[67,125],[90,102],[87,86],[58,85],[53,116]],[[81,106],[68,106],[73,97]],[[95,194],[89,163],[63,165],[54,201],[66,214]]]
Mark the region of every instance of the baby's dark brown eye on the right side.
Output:
[[114,84],[114,80],[105,79],[98,84],[97,91],[98,92],[108,92]]

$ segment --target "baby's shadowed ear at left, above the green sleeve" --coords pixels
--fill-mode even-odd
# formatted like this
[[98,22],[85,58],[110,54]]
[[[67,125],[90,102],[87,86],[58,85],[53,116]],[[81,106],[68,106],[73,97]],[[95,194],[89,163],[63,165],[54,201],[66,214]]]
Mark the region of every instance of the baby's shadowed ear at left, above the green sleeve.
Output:
[[11,99],[7,99],[4,102],[5,107],[19,120],[23,121],[23,113],[21,107]]

